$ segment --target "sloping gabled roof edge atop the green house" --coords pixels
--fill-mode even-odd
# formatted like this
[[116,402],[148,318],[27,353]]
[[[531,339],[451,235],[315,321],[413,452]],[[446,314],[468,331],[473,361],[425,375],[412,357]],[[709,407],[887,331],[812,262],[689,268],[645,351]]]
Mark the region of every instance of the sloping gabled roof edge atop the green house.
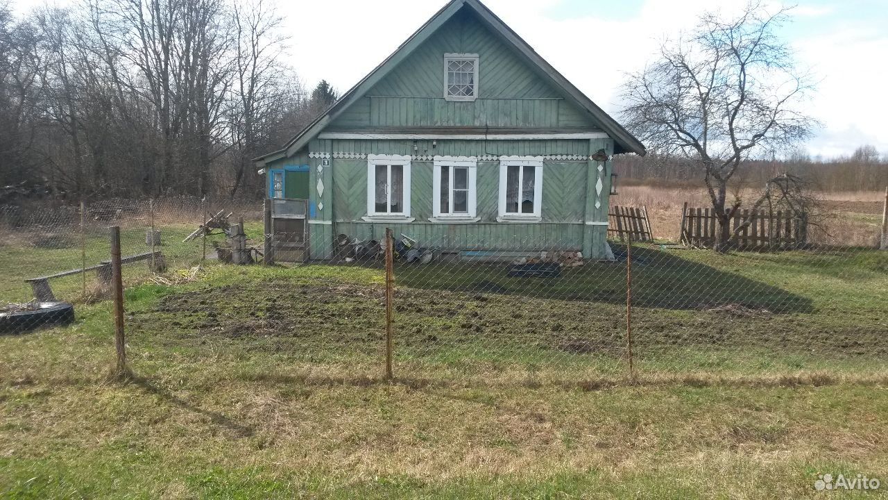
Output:
[[357,85],[354,85],[348,92],[343,94],[326,113],[306,126],[302,132],[297,133],[296,137],[291,139],[284,149],[258,157],[255,161],[265,164],[281,157],[289,157],[296,154],[299,149],[304,148],[309,141],[317,137],[327,125],[342,115],[346,109],[350,108],[356,101],[359,101],[373,85],[376,85],[388,75],[392,69],[398,66],[402,60],[405,60],[420,44],[423,44],[425,40],[453,18],[463,7],[470,8],[478,14],[485,26],[500,36],[505,44],[514,48],[530,64],[535,65],[540,70],[541,75],[547,77],[551,84],[563,92],[569,101],[572,101],[594,117],[604,132],[614,138],[615,153],[633,152],[639,155],[645,154],[645,146],[641,141],[638,141],[622,125],[618,124],[614,118],[610,117],[603,109],[599,108],[597,104],[580,92],[575,85],[567,81],[567,78],[552,68],[546,60],[540,57],[527,42],[509,28],[503,20],[499,19],[495,13],[491,12],[486,5],[481,4],[479,0],[451,0],[440,11],[435,13],[432,19],[426,21],[421,28],[417,29],[407,41],[400,44],[398,49],[388,56],[382,64],[373,69],[368,76],[363,77]]

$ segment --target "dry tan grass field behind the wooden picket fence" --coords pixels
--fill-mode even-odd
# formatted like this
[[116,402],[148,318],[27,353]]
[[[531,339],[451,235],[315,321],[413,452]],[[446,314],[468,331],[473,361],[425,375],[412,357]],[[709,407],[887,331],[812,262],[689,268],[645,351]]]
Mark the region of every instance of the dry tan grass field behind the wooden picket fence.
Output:
[[[757,191],[744,190],[741,197],[755,198]],[[876,246],[882,222],[884,193],[878,191],[820,193],[823,211],[827,214],[822,228],[813,228],[811,238],[819,245]],[[694,188],[659,188],[626,186],[612,204],[646,206],[654,238],[678,242],[681,207],[710,206],[706,190]]]

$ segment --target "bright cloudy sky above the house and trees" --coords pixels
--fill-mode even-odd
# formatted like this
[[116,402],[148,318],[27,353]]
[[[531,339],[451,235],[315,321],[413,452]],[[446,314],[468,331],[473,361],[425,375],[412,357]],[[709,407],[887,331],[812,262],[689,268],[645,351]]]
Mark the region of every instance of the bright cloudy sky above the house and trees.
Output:
[[[553,67],[614,114],[625,72],[642,69],[664,36],[698,14],[746,0],[485,0]],[[12,0],[17,11],[43,0]],[[59,3],[59,2],[56,2]],[[67,3],[61,0],[61,4]],[[446,0],[280,0],[290,60],[305,85],[344,92],[385,59]],[[824,127],[812,155],[860,144],[888,153],[888,0],[799,0],[781,35],[820,79],[810,112]]]

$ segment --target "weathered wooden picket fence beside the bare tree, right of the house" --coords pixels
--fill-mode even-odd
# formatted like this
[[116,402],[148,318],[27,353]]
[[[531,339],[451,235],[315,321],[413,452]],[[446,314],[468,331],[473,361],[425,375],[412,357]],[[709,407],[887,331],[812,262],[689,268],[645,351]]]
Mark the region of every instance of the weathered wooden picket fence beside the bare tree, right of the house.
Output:
[[[725,210],[725,214],[729,211]],[[750,212],[737,210],[731,218],[731,234],[749,221],[739,234],[733,237],[732,246],[744,250],[788,250],[807,243],[807,220],[782,210]],[[718,218],[712,208],[689,208],[687,203],[681,212],[681,243],[686,246],[711,248],[716,242]]]

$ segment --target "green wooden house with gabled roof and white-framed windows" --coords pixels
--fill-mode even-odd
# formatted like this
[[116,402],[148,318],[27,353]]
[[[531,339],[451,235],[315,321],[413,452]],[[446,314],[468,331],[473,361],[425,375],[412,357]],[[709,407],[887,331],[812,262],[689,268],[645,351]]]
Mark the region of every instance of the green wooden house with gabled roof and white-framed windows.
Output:
[[386,227],[464,257],[605,258],[609,160],[627,152],[645,148],[486,6],[453,0],[256,161],[273,232],[309,259]]

